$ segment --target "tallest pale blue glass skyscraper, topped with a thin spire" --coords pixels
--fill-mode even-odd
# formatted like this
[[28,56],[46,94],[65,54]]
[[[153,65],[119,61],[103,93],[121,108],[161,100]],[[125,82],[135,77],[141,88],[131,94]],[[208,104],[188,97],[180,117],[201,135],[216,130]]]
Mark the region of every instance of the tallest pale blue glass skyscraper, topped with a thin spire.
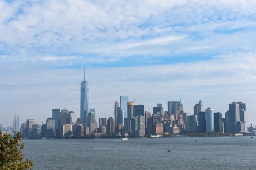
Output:
[[87,123],[88,114],[89,114],[89,83],[85,81],[85,69],[84,69],[84,81],[81,82],[81,99],[80,99],[80,118],[83,125]]

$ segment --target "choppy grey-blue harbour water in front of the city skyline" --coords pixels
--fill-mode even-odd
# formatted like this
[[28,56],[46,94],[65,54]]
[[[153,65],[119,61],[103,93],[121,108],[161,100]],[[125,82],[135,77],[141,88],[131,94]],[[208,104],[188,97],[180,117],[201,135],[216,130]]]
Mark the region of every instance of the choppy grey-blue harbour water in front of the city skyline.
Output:
[[[172,152],[167,152],[169,141]],[[256,139],[250,136],[54,139],[24,144],[24,156],[34,161],[35,170],[256,169]]]

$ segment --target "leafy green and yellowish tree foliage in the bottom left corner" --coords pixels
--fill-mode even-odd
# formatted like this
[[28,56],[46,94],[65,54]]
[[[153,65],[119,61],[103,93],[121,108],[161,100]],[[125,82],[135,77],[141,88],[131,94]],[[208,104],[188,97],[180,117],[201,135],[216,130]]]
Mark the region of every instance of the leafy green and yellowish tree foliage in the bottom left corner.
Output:
[[22,136],[20,133],[13,139],[9,134],[2,135],[0,130],[0,170],[32,170],[33,162],[26,159],[22,150]]

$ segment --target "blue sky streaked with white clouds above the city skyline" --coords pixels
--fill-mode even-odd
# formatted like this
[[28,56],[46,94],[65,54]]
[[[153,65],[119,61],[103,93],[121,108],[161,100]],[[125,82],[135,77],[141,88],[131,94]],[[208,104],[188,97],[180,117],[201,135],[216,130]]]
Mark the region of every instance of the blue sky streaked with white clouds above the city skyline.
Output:
[[221,113],[246,102],[256,124],[255,11],[253,0],[0,0],[0,123],[79,116],[85,67],[97,117],[121,95],[165,111],[181,97],[189,113],[199,99]]

